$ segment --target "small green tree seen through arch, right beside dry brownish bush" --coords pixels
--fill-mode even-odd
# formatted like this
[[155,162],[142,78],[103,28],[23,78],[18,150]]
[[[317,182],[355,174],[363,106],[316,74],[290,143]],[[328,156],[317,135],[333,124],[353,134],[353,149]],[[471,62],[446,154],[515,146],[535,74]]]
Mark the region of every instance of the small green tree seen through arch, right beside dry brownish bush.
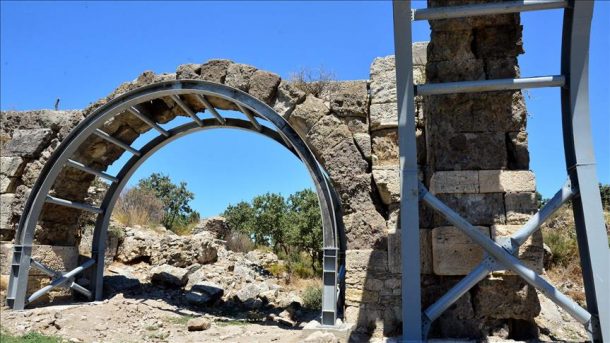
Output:
[[189,202],[195,198],[195,195],[186,188],[186,182],[176,185],[169,176],[153,173],[140,180],[138,187],[151,190],[163,202],[162,224],[166,228],[173,231],[176,224],[189,222],[188,218],[193,212]]

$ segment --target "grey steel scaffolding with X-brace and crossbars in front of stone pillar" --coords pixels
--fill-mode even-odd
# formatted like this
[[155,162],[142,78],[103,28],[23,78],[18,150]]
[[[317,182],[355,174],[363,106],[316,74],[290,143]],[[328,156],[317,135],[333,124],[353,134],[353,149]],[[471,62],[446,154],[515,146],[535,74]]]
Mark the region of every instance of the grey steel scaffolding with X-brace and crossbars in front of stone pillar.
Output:
[[[598,190],[589,121],[588,58],[592,1],[521,0],[411,9],[411,1],[394,1],[394,43],[398,90],[401,170],[403,341],[427,339],[432,321],[490,272],[510,269],[584,325],[593,341],[610,340],[610,251]],[[521,79],[414,85],[411,21],[564,9],[561,75]],[[568,180],[557,194],[512,237],[495,242],[478,232],[417,180],[415,95],[436,95],[535,87],[560,87],[564,150]],[[572,200],[583,271],[587,309],[557,290],[515,255],[519,246],[567,201]],[[481,263],[445,295],[421,311],[419,201],[481,245]]]

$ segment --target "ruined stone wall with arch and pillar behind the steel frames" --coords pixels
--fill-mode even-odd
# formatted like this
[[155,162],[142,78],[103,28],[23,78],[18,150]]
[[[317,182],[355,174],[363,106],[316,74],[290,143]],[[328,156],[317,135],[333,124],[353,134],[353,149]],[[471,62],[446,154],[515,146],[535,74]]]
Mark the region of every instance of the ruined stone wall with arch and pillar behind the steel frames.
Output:
[[[415,83],[514,78],[523,52],[519,15],[432,22],[429,44],[414,45]],[[316,97],[271,72],[227,60],[188,64],[175,74],[145,72],[82,111],[2,112],[0,138],[0,237],[14,238],[29,190],[45,161],[70,129],[99,106],[129,90],[162,80],[200,79],[248,92],[288,119],[329,173],[341,197],[347,237],[345,320],[375,334],[399,334],[401,322],[400,229],[395,66],[392,56],[375,59],[370,80],[339,81]],[[188,101],[188,99],[187,99]],[[191,103],[193,108],[197,105]],[[215,104],[216,105],[216,104]],[[219,105],[222,107],[222,104]],[[417,145],[420,178],[440,199],[491,238],[510,235],[536,209],[529,168],[526,109],[521,92],[419,97]],[[171,103],[149,108],[165,123],[183,115]],[[150,129],[128,116],[104,127],[124,142]],[[123,151],[93,138],[79,160],[105,170]],[[93,176],[63,172],[57,196],[84,200]],[[35,248],[57,269],[76,266],[80,211],[45,205]],[[424,306],[466,275],[483,251],[439,215],[420,213]],[[10,255],[2,249],[2,274]],[[35,253],[35,254],[36,254]],[[542,270],[542,237],[536,233],[520,257]],[[6,278],[6,275],[3,276]],[[44,282],[32,275],[31,285]],[[433,326],[444,337],[478,337],[532,328],[540,311],[536,291],[510,273],[489,276]]]

